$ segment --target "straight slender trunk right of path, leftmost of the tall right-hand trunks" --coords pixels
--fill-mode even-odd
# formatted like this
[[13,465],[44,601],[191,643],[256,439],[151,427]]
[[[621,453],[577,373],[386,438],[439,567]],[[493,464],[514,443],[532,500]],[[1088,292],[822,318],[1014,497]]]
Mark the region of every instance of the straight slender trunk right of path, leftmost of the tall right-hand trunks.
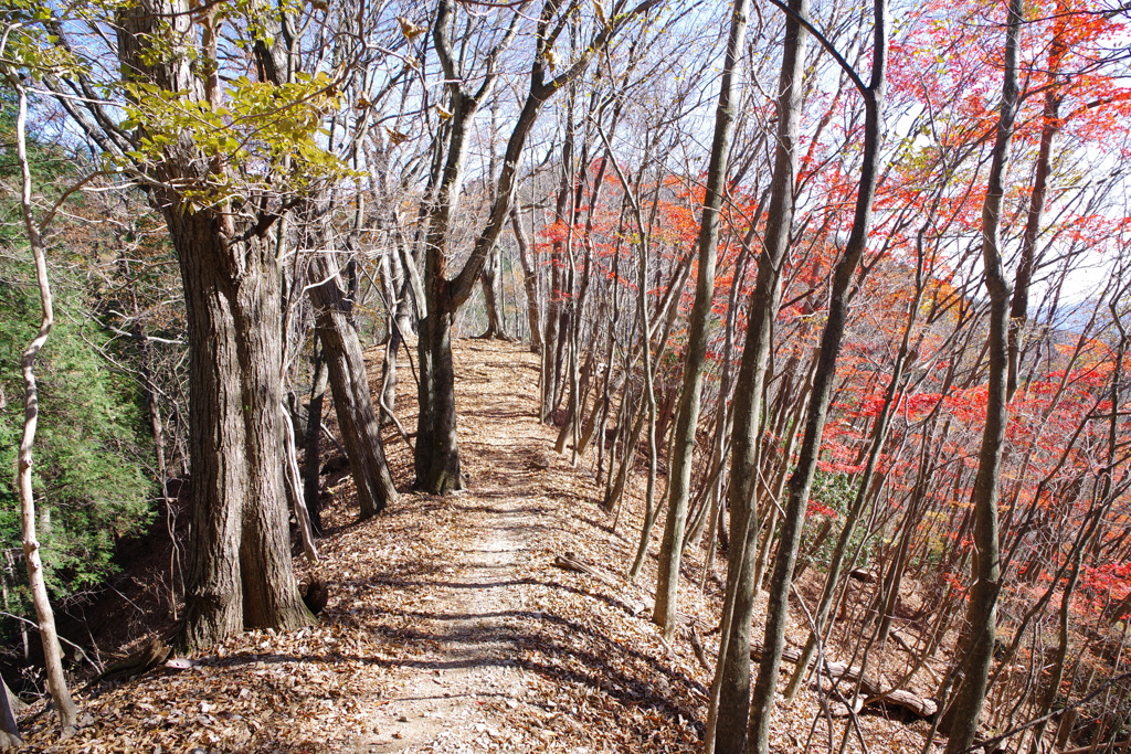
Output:
[[683,359],[683,388],[675,421],[675,439],[668,470],[667,520],[659,548],[659,574],[656,581],[656,608],[651,619],[659,625],[664,639],[675,632],[675,605],[680,586],[680,561],[683,554],[683,531],[687,526],[688,496],[691,487],[691,462],[694,457],[696,431],[699,428],[699,401],[706,366],[707,336],[711,302],[715,296],[715,259],[718,253],[719,214],[726,191],[731,138],[734,133],[735,69],[745,50],[746,16],[750,0],[736,0],[731,17],[731,35],[723,67],[718,107],[715,111],[715,136],[710,164],[707,168],[707,196],[699,224],[699,270],[696,298],[688,323],[688,349]]

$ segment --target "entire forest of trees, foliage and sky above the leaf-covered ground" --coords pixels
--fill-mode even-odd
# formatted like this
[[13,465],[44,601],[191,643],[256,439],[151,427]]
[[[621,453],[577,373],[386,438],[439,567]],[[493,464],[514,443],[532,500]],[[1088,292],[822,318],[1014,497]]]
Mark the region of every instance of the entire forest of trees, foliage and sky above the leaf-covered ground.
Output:
[[529,344],[555,450],[639,508],[631,578],[659,539],[666,638],[681,553],[725,560],[709,747],[766,751],[814,651],[866,668],[904,624],[908,677],[953,649],[924,670],[948,752],[1024,720],[1041,751],[1089,695],[1064,740],[1128,737],[1124,7],[0,12],[0,631],[64,728],[49,613],[153,527],[180,647],[313,619],[291,538],[317,557],[327,391],[361,517],[463,487],[476,336]]

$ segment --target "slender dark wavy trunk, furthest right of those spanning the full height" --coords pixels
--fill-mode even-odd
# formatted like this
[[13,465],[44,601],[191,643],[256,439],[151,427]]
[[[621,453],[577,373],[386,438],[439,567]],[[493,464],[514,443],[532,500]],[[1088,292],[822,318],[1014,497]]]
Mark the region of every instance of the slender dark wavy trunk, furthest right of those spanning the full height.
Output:
[[974,563],[970,598],[967,609],[968,629],[961,647],[962,679],[953,703],[943,721],[949,731],[946,754],[958,754],[974,743],[982,702],[985,699],[993,643],[998,623],[998,593],[1001,590],[999,555],[998,497],[1001,479],[1001,456],[1009,418],[1007,382],[1009,374],[1009,285],[1002,271],[1001,203],[1004,194],[1005,167],[1018,109],[1018,46],[1024,17],[1024,0],[1010,0],[1009,27],[1005,37],[1005,73],[1002,85],[1001,115],[993,147],[988,189],[982,207],[982,260],[986,288],[990,292],[990,378],[986,385],[986,424],[978,453],[978,474],[974,482]]

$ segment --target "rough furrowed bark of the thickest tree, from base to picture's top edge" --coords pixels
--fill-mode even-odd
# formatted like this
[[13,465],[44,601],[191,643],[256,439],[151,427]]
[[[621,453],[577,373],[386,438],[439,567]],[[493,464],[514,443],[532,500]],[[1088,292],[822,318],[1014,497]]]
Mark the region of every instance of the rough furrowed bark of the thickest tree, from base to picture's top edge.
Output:
[[[183,46],[197,21],[187,0],[144,0],[119,20],[128,78],[193,101],[215,92]],[[172,52],[153,62],[154,44]],[[193,648],[244,626],[311,622],[291,570],[283,491],[279,269],[266,237],[273,217],[248,220],[224,202],[195,208],[175,187],[207,184],[209,170],[188,133],[139,168],[165,218],[184,288],[192,536],[180,642]]]

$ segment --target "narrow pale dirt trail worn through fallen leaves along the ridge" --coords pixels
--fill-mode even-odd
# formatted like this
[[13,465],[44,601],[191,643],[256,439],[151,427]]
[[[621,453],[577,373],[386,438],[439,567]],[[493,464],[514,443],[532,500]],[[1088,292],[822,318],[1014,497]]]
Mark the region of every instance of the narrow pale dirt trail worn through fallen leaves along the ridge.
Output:
[[[518,662],[529,612],[529,566],[550,509],[537,468],[550,462],[545,427],[530,404],[537,374],[513,349],[457,345],[461,460],[468,489],[443,501],[458,531],[432,543],[446,564],[422,599],[416,630],[435,642],[433,667],[399,682],[373,719],[371,752],[525,751],[532,742],[509,721],[537,676]],[[468,364],[472,362],[472,364]],[[524,369],[526,367],[526,369]],[[403,375],[402,389],[411,387]],[[412,397],[403,404],[412,404]],[[537,465],[532,463],[538,460]],[[434,534],[434,532],[430,532]],[[438,547],[439,546],[439,547]],[[432,584],[417,582],[420,589]]]

